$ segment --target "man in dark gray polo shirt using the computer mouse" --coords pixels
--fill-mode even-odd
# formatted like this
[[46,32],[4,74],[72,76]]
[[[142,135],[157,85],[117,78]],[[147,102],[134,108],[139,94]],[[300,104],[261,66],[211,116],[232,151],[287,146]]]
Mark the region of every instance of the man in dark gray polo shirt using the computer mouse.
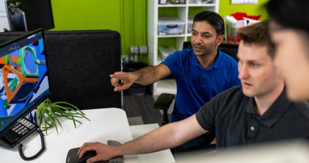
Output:
[[[228,89],[207,102],[196,114],[151,131],[120,146],[85,143],[79,157],[96,150],[93,163],[119,155],[150,153],[179,146],[208,131],[216,134],[217,147],[260,142],[309,139],[309,104],[291,102],[281,71],[272,63],[267,22],[244,28],[238,49],[238,78],[242,86]],[[220,76],[218,76],[220,78]]]

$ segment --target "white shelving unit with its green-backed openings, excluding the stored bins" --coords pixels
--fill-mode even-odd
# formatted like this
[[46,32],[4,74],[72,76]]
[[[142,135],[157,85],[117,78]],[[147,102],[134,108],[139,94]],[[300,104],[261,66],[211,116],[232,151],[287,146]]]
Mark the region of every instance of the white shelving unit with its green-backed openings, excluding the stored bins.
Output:
[[[205,0],[203,0],[205,1]],[[191,40],[191,32],[188,33],[188,18],[201,11],[219,12],[219,0],[212,0],[206,4],[158,4],[159,0],[148,0],[148,65],[158,65],[162,62],[158,47],[174,47],[181,50],[183,42]],[[185,22],[184,33],[175,35],[158,35],[159,16],[179,17]],[[176,94],[176,82],[174,80],[160,80],[152,84],[154,95],[161,93]]]

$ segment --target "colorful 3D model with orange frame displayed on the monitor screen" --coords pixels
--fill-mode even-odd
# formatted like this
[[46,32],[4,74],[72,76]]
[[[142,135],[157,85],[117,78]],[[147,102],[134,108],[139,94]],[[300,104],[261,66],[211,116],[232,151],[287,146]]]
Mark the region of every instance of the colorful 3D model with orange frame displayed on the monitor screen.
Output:
[[17,113],[39,90],[39,74],[46,73],[42,44],[41,39],[0,58],[0,117]]

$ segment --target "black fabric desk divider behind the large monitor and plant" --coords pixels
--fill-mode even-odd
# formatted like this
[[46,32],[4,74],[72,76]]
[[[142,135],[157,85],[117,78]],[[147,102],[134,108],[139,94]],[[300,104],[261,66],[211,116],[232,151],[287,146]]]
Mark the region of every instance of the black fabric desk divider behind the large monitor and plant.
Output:
[[[0,43],[25,32],[0,33]],[[79,109],[121,108],[110,74],[121,70],[120,34],[110,30],[45,32],[53,102]]]

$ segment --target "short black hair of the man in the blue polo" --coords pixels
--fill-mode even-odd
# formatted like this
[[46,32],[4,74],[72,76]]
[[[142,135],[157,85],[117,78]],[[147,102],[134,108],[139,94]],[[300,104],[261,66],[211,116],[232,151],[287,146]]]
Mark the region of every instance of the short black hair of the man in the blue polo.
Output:
[[202,11],[194,16],[193,24],[201,21],[207,21],[215,29],[218,36],[224,34],[224,20],[219,14],[212,11]]

